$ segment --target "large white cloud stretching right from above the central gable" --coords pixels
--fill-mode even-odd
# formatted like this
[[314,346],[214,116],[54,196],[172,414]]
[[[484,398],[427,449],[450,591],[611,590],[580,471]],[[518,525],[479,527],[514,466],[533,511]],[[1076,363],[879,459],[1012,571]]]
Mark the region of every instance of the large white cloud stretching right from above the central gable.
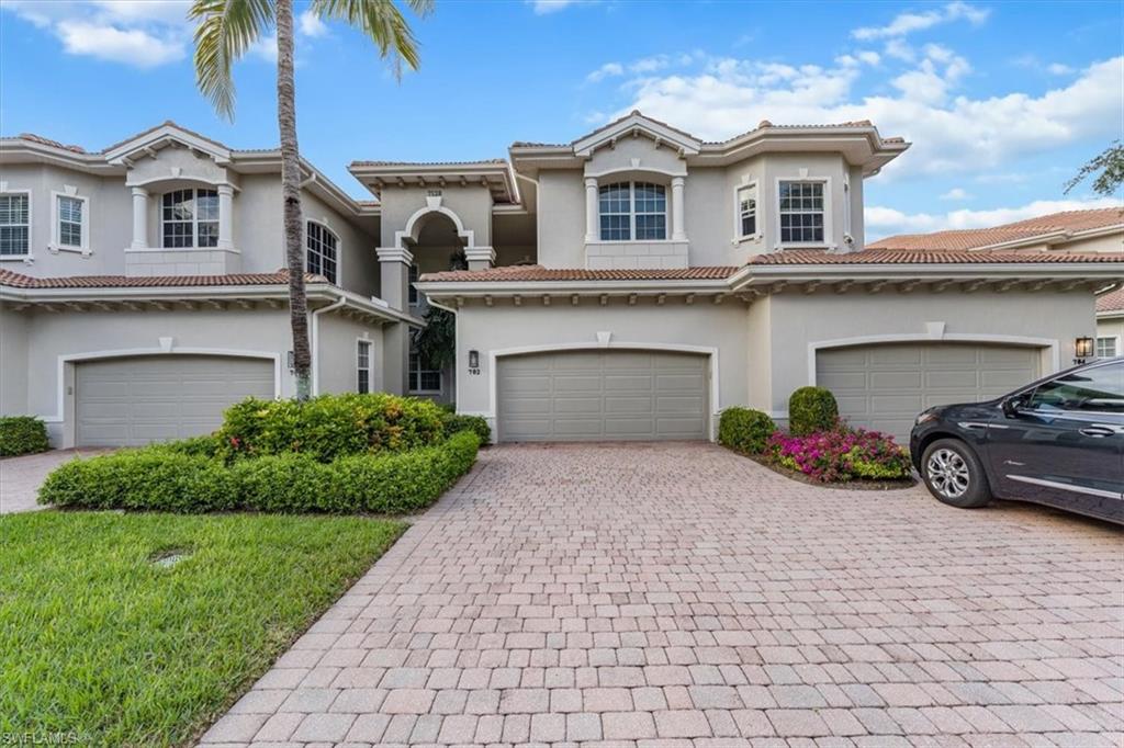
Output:
[[1124,129],[1124,57],[1094,63],[1037,95],[971,98],[955,91],[970,71],[968,61],[932,45],[924,54],[891,80],[890,92],[865,97],[853,88],[869,69],[710,60],[690,74],[629,81],[631,101],[610,116],[641,109],[708,139],[731,137],[762,119],[870,119],[885,135],[914,143],[886,170],[899,176],[994,172],[1018,155],[1112,138]]

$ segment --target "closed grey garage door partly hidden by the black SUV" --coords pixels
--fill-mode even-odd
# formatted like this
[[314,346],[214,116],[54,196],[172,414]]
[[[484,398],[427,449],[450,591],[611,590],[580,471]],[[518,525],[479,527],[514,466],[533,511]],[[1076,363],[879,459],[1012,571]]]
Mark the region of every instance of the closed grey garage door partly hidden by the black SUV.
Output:
[[932,405],[997,398],[1039,376],[1036,348],[895,344],[821,350],[816,383],[835,394],[852,426],[892,434],[901,444]]

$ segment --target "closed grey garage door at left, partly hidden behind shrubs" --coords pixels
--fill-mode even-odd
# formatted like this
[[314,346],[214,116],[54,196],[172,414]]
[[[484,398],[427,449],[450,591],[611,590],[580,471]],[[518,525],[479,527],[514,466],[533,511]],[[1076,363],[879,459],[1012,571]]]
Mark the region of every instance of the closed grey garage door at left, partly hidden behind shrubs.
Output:
[[138,356],[75,365],[79,446],[135,446],[209,434],[247,395],[273,398],[273,362]]

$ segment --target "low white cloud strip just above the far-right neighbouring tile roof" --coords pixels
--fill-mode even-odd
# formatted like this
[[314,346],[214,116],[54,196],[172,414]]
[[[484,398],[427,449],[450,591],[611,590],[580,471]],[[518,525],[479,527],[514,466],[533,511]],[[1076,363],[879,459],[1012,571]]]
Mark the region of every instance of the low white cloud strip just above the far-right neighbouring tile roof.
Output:
[[[927,234],[946,229],[986,228],[1010,224],[1037,216],[1046,216],[1063,210],[1089,210],[1093,208],[1121,208],[1121,201],[1113,198],[1094,200],[1035,200],[1015,208],[992,208],[989,210],[952,210],[946,213],[906,213],[894,208],[868,206],[863,211],[867,232],[873,236],[894,234]],[[872,241],[873,239],[868,239]]]

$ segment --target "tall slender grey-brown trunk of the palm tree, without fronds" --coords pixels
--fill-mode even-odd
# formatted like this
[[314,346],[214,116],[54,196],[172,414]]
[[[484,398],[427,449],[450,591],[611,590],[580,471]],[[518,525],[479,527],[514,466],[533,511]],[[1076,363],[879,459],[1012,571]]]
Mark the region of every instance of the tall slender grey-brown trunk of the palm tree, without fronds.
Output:
[[289,322],[292,327],[297,400],[311,392],[308,299],[305,297],[303,218],[300,210],[300,155],[297,148],[297,84],[293,80],[292,0],[277,0],[278,128],[281,131],[281,195],[284,248],[289,267]]

